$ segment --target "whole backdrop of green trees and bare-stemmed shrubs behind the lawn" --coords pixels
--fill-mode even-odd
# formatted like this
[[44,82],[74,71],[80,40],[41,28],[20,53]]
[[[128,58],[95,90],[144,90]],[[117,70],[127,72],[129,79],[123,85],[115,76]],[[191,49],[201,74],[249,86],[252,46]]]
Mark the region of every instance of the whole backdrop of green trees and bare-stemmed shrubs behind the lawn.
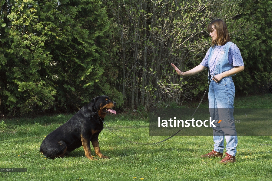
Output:
[[210,47],[221,18],[245,70],[237,94],[272,91],[271,1],[0,0],[0,111],[74,112],[98,95],[123,109],[198,99],[207,72],[179,77]]

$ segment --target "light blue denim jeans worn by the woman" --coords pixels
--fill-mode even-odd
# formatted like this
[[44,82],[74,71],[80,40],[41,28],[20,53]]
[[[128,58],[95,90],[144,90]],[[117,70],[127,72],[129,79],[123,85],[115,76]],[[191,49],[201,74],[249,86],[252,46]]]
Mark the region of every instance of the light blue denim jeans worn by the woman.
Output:
[[234,94],[235,87],[231,77],[225,77],[219,83],[211,80],[208,94],[210,115],[212,120],[222,120],[213,127],[214,151],[223,153],[226,138],[226,150],[232,156],[236,154],[238,142],[233,117]]

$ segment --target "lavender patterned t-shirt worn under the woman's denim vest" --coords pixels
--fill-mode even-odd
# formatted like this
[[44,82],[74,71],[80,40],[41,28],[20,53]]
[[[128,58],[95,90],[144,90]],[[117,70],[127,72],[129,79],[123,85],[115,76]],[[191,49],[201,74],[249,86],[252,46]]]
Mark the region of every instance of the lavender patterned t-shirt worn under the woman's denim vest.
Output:
[[[221,54],[221,52],[224,49],[224,46],[225,45],[223,45],[223,46],[216,45],[215,46],[214,53],[212,54],[212,57],[210,60],[210,74],[211,75],[214,75],[215,66],[218,62],[219,55]],[[204,67],[209,67],[208,66],[209,55],[210,55],[210,49],[206,53],[206,56],[202,60],[200,65],[202,65]],[[232,65],[233,67],[244,66],[244,62],[243,62],[243,58],[241,56],[240,50],[237,47],[237,45],[235,45],[235,44],[232,44],[229,49],[229,64]]]

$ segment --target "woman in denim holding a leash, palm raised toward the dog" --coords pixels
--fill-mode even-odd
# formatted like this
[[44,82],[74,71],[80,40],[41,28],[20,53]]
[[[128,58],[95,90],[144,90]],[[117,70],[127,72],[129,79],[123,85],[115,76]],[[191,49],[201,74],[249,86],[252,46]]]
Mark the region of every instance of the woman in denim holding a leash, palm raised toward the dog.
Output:
[[235,87],[231,76],[244,70],[244,62],[238,47],[230,41],[227,25],[221,19],[212,21],[208,25],[212,38],[211,48],[206,53],[200,65],[182,72],[174,64],[171,64],[178,75],[187,76],[197,74],[206,67],[209,70],[209,109],[213,120],[221,121],[213,127],[214,148],[210,153],[201,157],[223,157],[224,137],[226,139],[226,156],[219,163],[235,162],[237,147],[237,134],[233,118],[233,103]]

